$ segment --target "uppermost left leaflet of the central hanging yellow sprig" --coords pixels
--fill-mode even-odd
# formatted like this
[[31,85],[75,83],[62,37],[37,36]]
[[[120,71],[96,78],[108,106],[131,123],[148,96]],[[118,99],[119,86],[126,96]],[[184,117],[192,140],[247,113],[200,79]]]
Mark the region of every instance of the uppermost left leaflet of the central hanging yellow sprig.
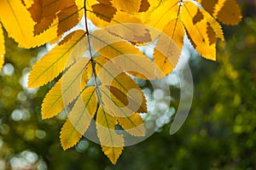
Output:
[[73,37],[68,42],[57,45],[32,66],[28,79],[29,88],[37,88],[52,81],[61,71],[84,54],[87,48],[85,32],[79,30],[72,34]]

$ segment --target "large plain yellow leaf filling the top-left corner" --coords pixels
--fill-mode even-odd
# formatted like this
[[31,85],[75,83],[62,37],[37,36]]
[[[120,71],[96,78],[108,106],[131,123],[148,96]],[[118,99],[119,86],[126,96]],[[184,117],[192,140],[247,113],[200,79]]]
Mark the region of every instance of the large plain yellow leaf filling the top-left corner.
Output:
[[20,46],[31,46],[34,23],[26,7],[20,0],[1,0],[0,8],[0,20],[9,37],[13,37]]

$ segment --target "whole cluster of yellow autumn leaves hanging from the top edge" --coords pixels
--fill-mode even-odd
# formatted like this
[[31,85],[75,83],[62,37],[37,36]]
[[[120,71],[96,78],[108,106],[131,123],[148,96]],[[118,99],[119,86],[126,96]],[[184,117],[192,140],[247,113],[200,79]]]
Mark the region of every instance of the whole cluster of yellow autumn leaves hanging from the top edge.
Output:
[[[185,36],[201,56],[215,60],[216,43],[224,40],[219,22],[236,25],[241,20],[236,0],[1,0],[0,9],[4,29],[20,47],[57,44],[33,65],[28,86],[61,77],[44,98],[42,118],[71,107],[61,129],[63,149],[77,144],[94,121],[102,150],[113,164],[125,145],[118,125],[130,135],[145,135],[139,113],[147,112],[146,99],[130,76],[165,77],[177,65]],[[85,28],[70,31],[83,16]],[[102,29],[90,32],[88,20]],[[0,67],[5,54],[2,25]],[[137,46],[154,41],[151,61]]]

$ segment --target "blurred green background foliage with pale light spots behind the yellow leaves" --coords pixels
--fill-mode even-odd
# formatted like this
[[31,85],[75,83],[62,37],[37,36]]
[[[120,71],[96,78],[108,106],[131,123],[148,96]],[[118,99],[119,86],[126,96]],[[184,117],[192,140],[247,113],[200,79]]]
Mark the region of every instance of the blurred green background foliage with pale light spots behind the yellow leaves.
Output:
[[71,150],[61,149],[63,117],[42,121],[40,116],[50,85],[27,90],[24,84],[38,49],[17,48],[6,38],[0,77],[0,169],[255,169],[255,10],[245,3],[241,24],[224,27],[227,38],[218,43],[218,62],[191,57],[195,94],[183,127],[170,135],[166,125],[143,143],[126,147],[116,166],[99,145],[86,139]]

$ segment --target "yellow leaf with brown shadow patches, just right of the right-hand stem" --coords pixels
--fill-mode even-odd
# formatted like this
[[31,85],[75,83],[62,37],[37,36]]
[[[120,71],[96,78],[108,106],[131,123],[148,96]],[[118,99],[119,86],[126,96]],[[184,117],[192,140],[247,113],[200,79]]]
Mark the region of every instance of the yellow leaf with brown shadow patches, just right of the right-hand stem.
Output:
[[[215,60],[217,37],[224,39],[218,22],[205,10],[198,8],[191,2],[183,3],[180,18],[196,51],[207,59]],[[213,31],[207,29],[209,26],[212,27]],[[207,33],[214,33],[215,38],[209,39],[212,36],[208,36]]]

